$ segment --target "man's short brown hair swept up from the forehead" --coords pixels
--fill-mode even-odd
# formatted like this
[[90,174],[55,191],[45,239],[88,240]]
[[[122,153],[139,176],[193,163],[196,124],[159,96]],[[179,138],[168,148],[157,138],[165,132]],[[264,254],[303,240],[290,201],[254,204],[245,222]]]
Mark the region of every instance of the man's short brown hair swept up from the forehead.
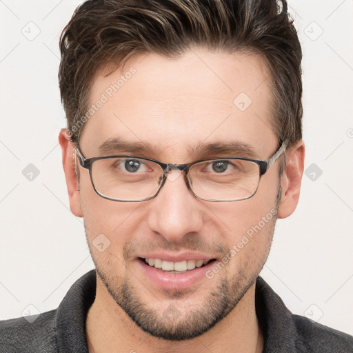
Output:
[[78,143],[94,75],[132,54],[178,57],[192,46],[256,52],[268,64],[273,128],[279,141],[302,138],[301,45],[285,0],[90,0],[60,39],[59,86]]

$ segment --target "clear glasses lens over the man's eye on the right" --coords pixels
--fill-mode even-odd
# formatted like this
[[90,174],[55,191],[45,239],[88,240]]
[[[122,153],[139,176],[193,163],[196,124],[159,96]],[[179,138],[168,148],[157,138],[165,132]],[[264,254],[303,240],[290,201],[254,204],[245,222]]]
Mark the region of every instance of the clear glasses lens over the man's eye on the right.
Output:
[[192,165],[190,187],[196,196],[210,201],[248,199],[259,186],[259,165],[241,159],[217,159]]

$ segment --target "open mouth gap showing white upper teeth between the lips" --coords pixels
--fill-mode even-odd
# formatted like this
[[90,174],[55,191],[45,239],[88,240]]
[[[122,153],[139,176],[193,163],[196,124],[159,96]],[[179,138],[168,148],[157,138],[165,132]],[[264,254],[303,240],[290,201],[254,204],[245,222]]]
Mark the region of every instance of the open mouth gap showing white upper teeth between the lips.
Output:
[[216,259],[205,259],[205,260],[183,260],[183,261],[167,261],[162,259],[153,259],[153,258],[143,258],[139,257],[139,261],[146,263],[151,268],[156,268],[161,272],[167,272],[170,274],[183,274],[195,270],[196,268],[203,268],[209,263],[216,261]]

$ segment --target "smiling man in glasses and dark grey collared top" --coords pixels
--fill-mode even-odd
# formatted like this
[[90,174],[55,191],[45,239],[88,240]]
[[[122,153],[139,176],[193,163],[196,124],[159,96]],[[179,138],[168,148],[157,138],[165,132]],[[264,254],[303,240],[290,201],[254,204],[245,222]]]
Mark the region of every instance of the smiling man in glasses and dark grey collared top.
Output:
[[59,142],[96,270],[1,352],[353,352],[259,277],[303,174],[285,1],[86,1],[61,37]]

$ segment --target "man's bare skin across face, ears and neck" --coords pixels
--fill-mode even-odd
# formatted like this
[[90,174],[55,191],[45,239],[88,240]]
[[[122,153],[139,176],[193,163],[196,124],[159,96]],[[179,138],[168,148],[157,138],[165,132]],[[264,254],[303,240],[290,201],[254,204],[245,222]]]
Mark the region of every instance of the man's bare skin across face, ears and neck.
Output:
[[[268,71],[254,54],[203,48],[194,48],[178,59],[135,54],[125,63],[123,72],[131,67],[136,68],[136,74],[85,123],[80,148],[86,158],[96,157],[99,145],[110,137],[155,145],[159,150],[146,150],[147,157],[165,163],[202,159],[204,156],[190,153],[188,145],[196,148],[206,142],[248,143],[259,159],[268,159],[279,147],[271,123],[271,90],[265,83]],[[121,70],[106,74],[98,72],[92,83],[92,103],[119,79]],[[240,92],[252,99],[243,112],[232,103]],[[150,201],[103,199],[94,192],[88,170],[81,166],[78,185],[74,144],[65,129],[59,134],[59,142],[70,209],[74,215],[83,216],[99,272],[96,299],[86,321],[90,352],[262,352],[254,281],[270,251],[274,218],[212,279],[205,277],[185,290],[161,290],[143,276],[136,256],[145,250],[179,253],[192,249],[210,254],[219,262],[252,225],[274,208],[278,218],[290,216],[299,199],[303,142],[285,152],[287,163],[281,179],[279,163],[283,156],[263,175],[252,198],[225,203],[196,199],[179,177],[182,172],[176,170]],[[104,252],[92,245],[101,233],[110,240]],[[216,299],[216,310],[210,305],[212,298]],[[132,307],[132,299],[139,303],[138,308]],[[178,313],[173,322],[163,316],[170,305]],[[142,323],[142,329],[129,316],[133,310],[139,313],[135,321],[140,326]],[[219,321],[214,322],[217,315]],[[200,318],[210,321],[206,329],[201,327],[204,320]],[[175,340],[161,339],[153,335],[153,323],[162,327],[164,334],[175,334],[181,327],[199,332],[187,340],[177,336]],[[201,334],[202,330],[205,332]]]

